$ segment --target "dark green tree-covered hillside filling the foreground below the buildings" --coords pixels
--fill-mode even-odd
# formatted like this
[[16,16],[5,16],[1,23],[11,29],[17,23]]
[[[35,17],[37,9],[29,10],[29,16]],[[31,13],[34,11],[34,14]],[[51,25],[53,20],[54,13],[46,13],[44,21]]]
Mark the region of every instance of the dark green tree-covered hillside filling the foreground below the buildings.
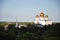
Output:
[[[26,22],[22,22],[26,23]],[[0,40],[60,40],[60,23],[34,27],[34,24],[27,23],[28,27],[15,28],[15,22],[9,24],[8,30],[0,23]]]

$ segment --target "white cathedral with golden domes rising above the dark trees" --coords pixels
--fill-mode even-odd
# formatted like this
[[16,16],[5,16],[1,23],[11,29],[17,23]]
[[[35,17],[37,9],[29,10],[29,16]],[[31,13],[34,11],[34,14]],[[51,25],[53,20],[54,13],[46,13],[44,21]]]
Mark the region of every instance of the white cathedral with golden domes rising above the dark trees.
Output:
[[48,15],[44,15],[44,12],[41,12],[40,15],[36,15],[35,24],[41,25],[52,25],[52,21],[49,20]]

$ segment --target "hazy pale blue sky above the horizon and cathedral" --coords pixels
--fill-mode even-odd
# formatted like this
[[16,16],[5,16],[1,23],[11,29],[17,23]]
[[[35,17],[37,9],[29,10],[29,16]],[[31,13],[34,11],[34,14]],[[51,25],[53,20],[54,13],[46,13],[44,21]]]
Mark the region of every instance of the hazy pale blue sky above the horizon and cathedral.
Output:
[[42,10],[60,22],[60,0],[0,0],[0,21],[35,21]]

